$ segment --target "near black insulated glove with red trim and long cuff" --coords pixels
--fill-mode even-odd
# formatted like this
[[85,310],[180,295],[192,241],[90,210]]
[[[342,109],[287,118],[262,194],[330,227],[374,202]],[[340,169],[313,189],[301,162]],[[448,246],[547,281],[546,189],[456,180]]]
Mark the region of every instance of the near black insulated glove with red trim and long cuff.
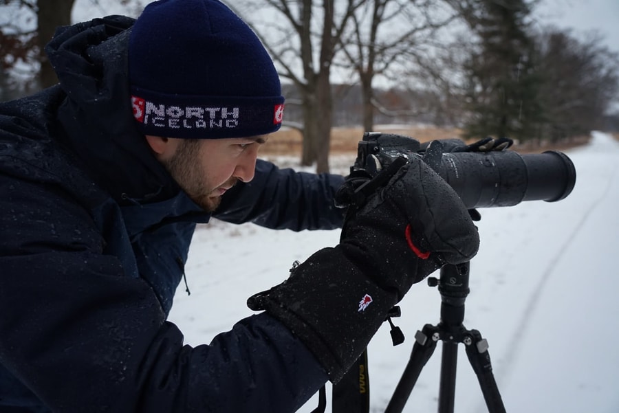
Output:
[[381,172],[351,205],[333,248],[316,252],[288,280],[254,295],[300,337],[336,383],[412,284],[477,253],[479,236],[457,194],[420,157]]

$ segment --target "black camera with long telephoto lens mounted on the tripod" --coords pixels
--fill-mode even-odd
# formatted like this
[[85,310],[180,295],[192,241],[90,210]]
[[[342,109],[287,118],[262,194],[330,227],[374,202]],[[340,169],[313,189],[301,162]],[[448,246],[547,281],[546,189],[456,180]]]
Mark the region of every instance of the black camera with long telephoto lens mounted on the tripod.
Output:
[[[422,157],[420,142],[411,137],[368,132],[358,143],[351,175],[370,177],[404,157]],[[576,168],[564,153],[548,150],[521,155],[513,150],[494,152],[446,152],[436,172],[467,208],[512,206],[522,201],[554,202],[574,189]]]

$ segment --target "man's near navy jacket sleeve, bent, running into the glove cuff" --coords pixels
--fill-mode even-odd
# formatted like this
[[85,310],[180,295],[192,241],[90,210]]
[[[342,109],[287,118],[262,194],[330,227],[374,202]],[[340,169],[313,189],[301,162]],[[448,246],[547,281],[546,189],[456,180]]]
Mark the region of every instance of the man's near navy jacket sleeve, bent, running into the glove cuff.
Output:
[[294,411],[325,383],[265,314],[184,346],[67,194],[6,177],[0,194],[0,364],[51,410]]

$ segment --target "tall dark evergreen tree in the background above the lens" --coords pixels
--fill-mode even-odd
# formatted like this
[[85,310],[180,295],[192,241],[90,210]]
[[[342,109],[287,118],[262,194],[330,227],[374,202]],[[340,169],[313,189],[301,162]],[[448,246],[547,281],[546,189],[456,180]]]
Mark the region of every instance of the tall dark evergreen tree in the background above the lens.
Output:
[[534,43],[528,35],[531,6],[524,0],[472,0],[463,10],[479,38],[465,65],[466,137],[534,135],[541,115]]

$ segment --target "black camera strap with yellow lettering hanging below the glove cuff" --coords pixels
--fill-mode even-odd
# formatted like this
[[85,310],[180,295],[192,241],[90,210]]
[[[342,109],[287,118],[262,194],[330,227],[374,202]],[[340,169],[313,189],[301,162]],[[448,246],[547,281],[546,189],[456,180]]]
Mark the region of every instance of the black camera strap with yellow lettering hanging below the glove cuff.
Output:
[[368,412],[369,375],[366,349],[344,377],[333,385],[332,413]]

